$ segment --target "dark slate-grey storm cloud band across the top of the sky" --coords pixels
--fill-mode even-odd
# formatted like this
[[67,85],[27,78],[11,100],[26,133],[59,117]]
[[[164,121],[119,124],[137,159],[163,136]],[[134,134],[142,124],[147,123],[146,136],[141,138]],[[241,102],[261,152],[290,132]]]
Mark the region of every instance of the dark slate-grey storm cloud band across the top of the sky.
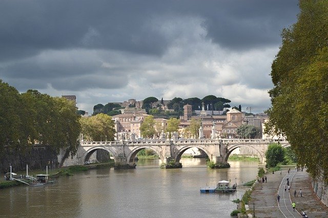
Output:
[[222,47],[279,43],[277,32],[295,17],[296,1],[2,1],[0,60],[44,49],[114,49],[161,55],[173,38],[158,21],[200,16]]

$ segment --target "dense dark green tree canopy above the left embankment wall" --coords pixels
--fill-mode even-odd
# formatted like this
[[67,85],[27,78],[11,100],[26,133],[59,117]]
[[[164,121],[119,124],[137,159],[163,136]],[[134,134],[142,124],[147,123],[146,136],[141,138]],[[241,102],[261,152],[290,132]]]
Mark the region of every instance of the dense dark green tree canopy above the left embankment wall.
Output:
[[40,143],[75,154],[80,116],[72,101],[36,90],[19,94],[0,80],[0,102],[0,151],[4,147],[28,150]]

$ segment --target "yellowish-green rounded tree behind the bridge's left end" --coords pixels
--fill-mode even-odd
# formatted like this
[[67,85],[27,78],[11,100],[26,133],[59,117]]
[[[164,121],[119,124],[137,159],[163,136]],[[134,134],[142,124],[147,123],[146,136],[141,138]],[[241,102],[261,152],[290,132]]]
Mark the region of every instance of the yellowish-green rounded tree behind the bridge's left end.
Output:
[[97,114],[92,117],[81,117],[81,133],[87,141],[113,141],[115,124],[106,114]]

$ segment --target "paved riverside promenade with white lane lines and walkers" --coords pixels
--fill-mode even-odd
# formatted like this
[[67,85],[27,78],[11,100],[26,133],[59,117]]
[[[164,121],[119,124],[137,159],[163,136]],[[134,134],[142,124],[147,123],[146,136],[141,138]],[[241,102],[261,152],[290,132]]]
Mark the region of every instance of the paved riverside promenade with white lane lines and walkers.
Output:
[[[315,195],[311,178],[305,170],[297,172],[295,168],[291,168],[290,173],[285,169],[282,170],[281,175],[280,171],[276,171],[265,176],[267,176],[267,183],[255,184],[251,194],[252,200],[249,202],[249,208],[251,210],[255,208],[255,217],[302,217],[302,211],[305,211],[309,217],[328,217],[328,207]],[[287,178],[290,181],[290,192]],[[285,185],[286,191],[284,191]],[[300,189],[302,189],[302,197],[300,197]],[[294,190],[296,190],[296,197],[294,197]],[[296,204],[295,211],[292,202]]]

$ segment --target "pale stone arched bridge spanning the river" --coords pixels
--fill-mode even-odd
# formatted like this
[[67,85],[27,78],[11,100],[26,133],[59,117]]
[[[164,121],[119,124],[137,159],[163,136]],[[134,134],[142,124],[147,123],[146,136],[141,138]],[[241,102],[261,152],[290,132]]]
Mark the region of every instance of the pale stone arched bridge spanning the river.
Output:
[[[144,148],[152,149],[159,156],[161,163],[174,161],[179,163],[187,149],[196,147],[204,151],[211,161],[227,163],[231,152],[239,147],[247,147],[257,154],[261,163],[265,163],[265,151],[275,141],[264,139],[154,139],[127,140],[111,142],[80,142],[76,156],[72,157],[73,165],[83,165],[98,149],[106,150],[115,163],[134,164],[137,153]],[[279,141],[282,147],[290,146],[288,141]],[[65,160],[66,161],[66,160]]]

